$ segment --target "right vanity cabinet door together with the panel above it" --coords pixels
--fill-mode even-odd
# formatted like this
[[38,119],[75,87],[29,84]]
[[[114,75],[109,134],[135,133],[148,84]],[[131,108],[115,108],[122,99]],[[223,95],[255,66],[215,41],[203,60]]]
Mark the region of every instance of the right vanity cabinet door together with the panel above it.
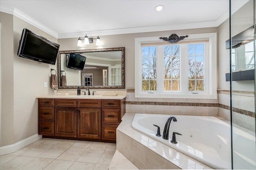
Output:
[[101,139],[101,100],[78,99],[78,138]]

